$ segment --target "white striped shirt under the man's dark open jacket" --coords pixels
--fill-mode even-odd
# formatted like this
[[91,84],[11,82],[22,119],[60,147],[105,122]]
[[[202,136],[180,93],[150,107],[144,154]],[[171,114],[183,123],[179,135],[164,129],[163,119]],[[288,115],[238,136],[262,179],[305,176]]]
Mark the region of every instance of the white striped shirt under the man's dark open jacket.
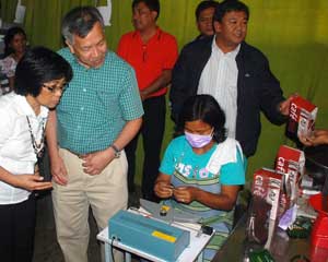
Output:
[[212,95],[225,112],[227,135],[235,139],[237,119],[237,79],[238,68],[236,56],[241,45],[227,53],[212,41],[212,53],[207,62],[199,81],[198,94]]

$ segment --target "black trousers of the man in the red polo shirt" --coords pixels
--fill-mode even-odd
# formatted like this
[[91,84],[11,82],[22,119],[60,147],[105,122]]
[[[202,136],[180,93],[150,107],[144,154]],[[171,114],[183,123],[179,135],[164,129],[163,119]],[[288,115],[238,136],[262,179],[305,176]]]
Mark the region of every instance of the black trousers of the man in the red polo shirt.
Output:
[[160,154],[165,129],[165,96],[152,97],[144,100],[143,110],[144,115],[141,130],[125,147],[129,163],[128,187],[130,192],[134,190],[136,150],[138,146],[138,138],[141,133],[144,150],[141,184],[142,196],[150,201],[157,201],[154,194],[154,183],[159,175]]

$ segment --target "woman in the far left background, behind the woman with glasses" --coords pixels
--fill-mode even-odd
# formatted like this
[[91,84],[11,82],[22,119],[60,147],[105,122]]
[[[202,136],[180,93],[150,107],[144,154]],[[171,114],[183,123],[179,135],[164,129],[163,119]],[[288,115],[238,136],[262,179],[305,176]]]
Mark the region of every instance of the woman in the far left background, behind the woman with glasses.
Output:
[[13,90],[17,62],[26,51],[26,34],[17,26],[8,29],[4,36],[4,59],[0,60],[2,93]]

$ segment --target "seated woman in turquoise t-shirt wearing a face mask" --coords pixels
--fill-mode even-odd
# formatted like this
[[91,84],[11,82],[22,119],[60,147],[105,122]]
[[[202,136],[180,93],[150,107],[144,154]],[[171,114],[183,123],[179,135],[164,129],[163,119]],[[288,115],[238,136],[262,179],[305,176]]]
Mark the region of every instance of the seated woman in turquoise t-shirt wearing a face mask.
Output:
[[227,238],[241,184],[245,183],[242,148],[225,136],[225,116],[210,95],[188,98],[179,116],[177,132],[166,148],[154,191],[173,198],[175,209],[201,217],[215,229],[204,250],[211,261]]

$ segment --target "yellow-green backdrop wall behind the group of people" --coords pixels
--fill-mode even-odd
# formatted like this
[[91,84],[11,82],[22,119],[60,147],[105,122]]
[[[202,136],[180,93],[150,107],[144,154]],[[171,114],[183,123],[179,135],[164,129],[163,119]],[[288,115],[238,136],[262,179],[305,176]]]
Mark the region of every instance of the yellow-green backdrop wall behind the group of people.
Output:
[[[2,17],[13,17],[16,0],[1,0]],[[61,45],[60,20],[71,7],[92,0],[23,0],[24,23],[32,45],[58,49]],[[101,0],[101,2],[105,2]],[[159,24],[176,36],[179,48],[196,35],[195,8],[199,0],[162,0]],[[112,0],[112,26],[106,28],[109,48],[115,50],[121,34],[132,29],[131,1]],[[280,80],[285,96],[298,93],[319,107],[317,127],[328,128],[328,1],[327,0],[245,0],[250,9],[247,41],[267,55],[271,70]],[[173,124],[167,114],[164,146],[172,138]],[[255,169],[271,167],[280,144],[288,143],[284,127],[262,119],[257,154],[249,159],[248,178]],[[138,162],[141,162],[141,150]],[[138,174],[140,175],[140,166]]]

